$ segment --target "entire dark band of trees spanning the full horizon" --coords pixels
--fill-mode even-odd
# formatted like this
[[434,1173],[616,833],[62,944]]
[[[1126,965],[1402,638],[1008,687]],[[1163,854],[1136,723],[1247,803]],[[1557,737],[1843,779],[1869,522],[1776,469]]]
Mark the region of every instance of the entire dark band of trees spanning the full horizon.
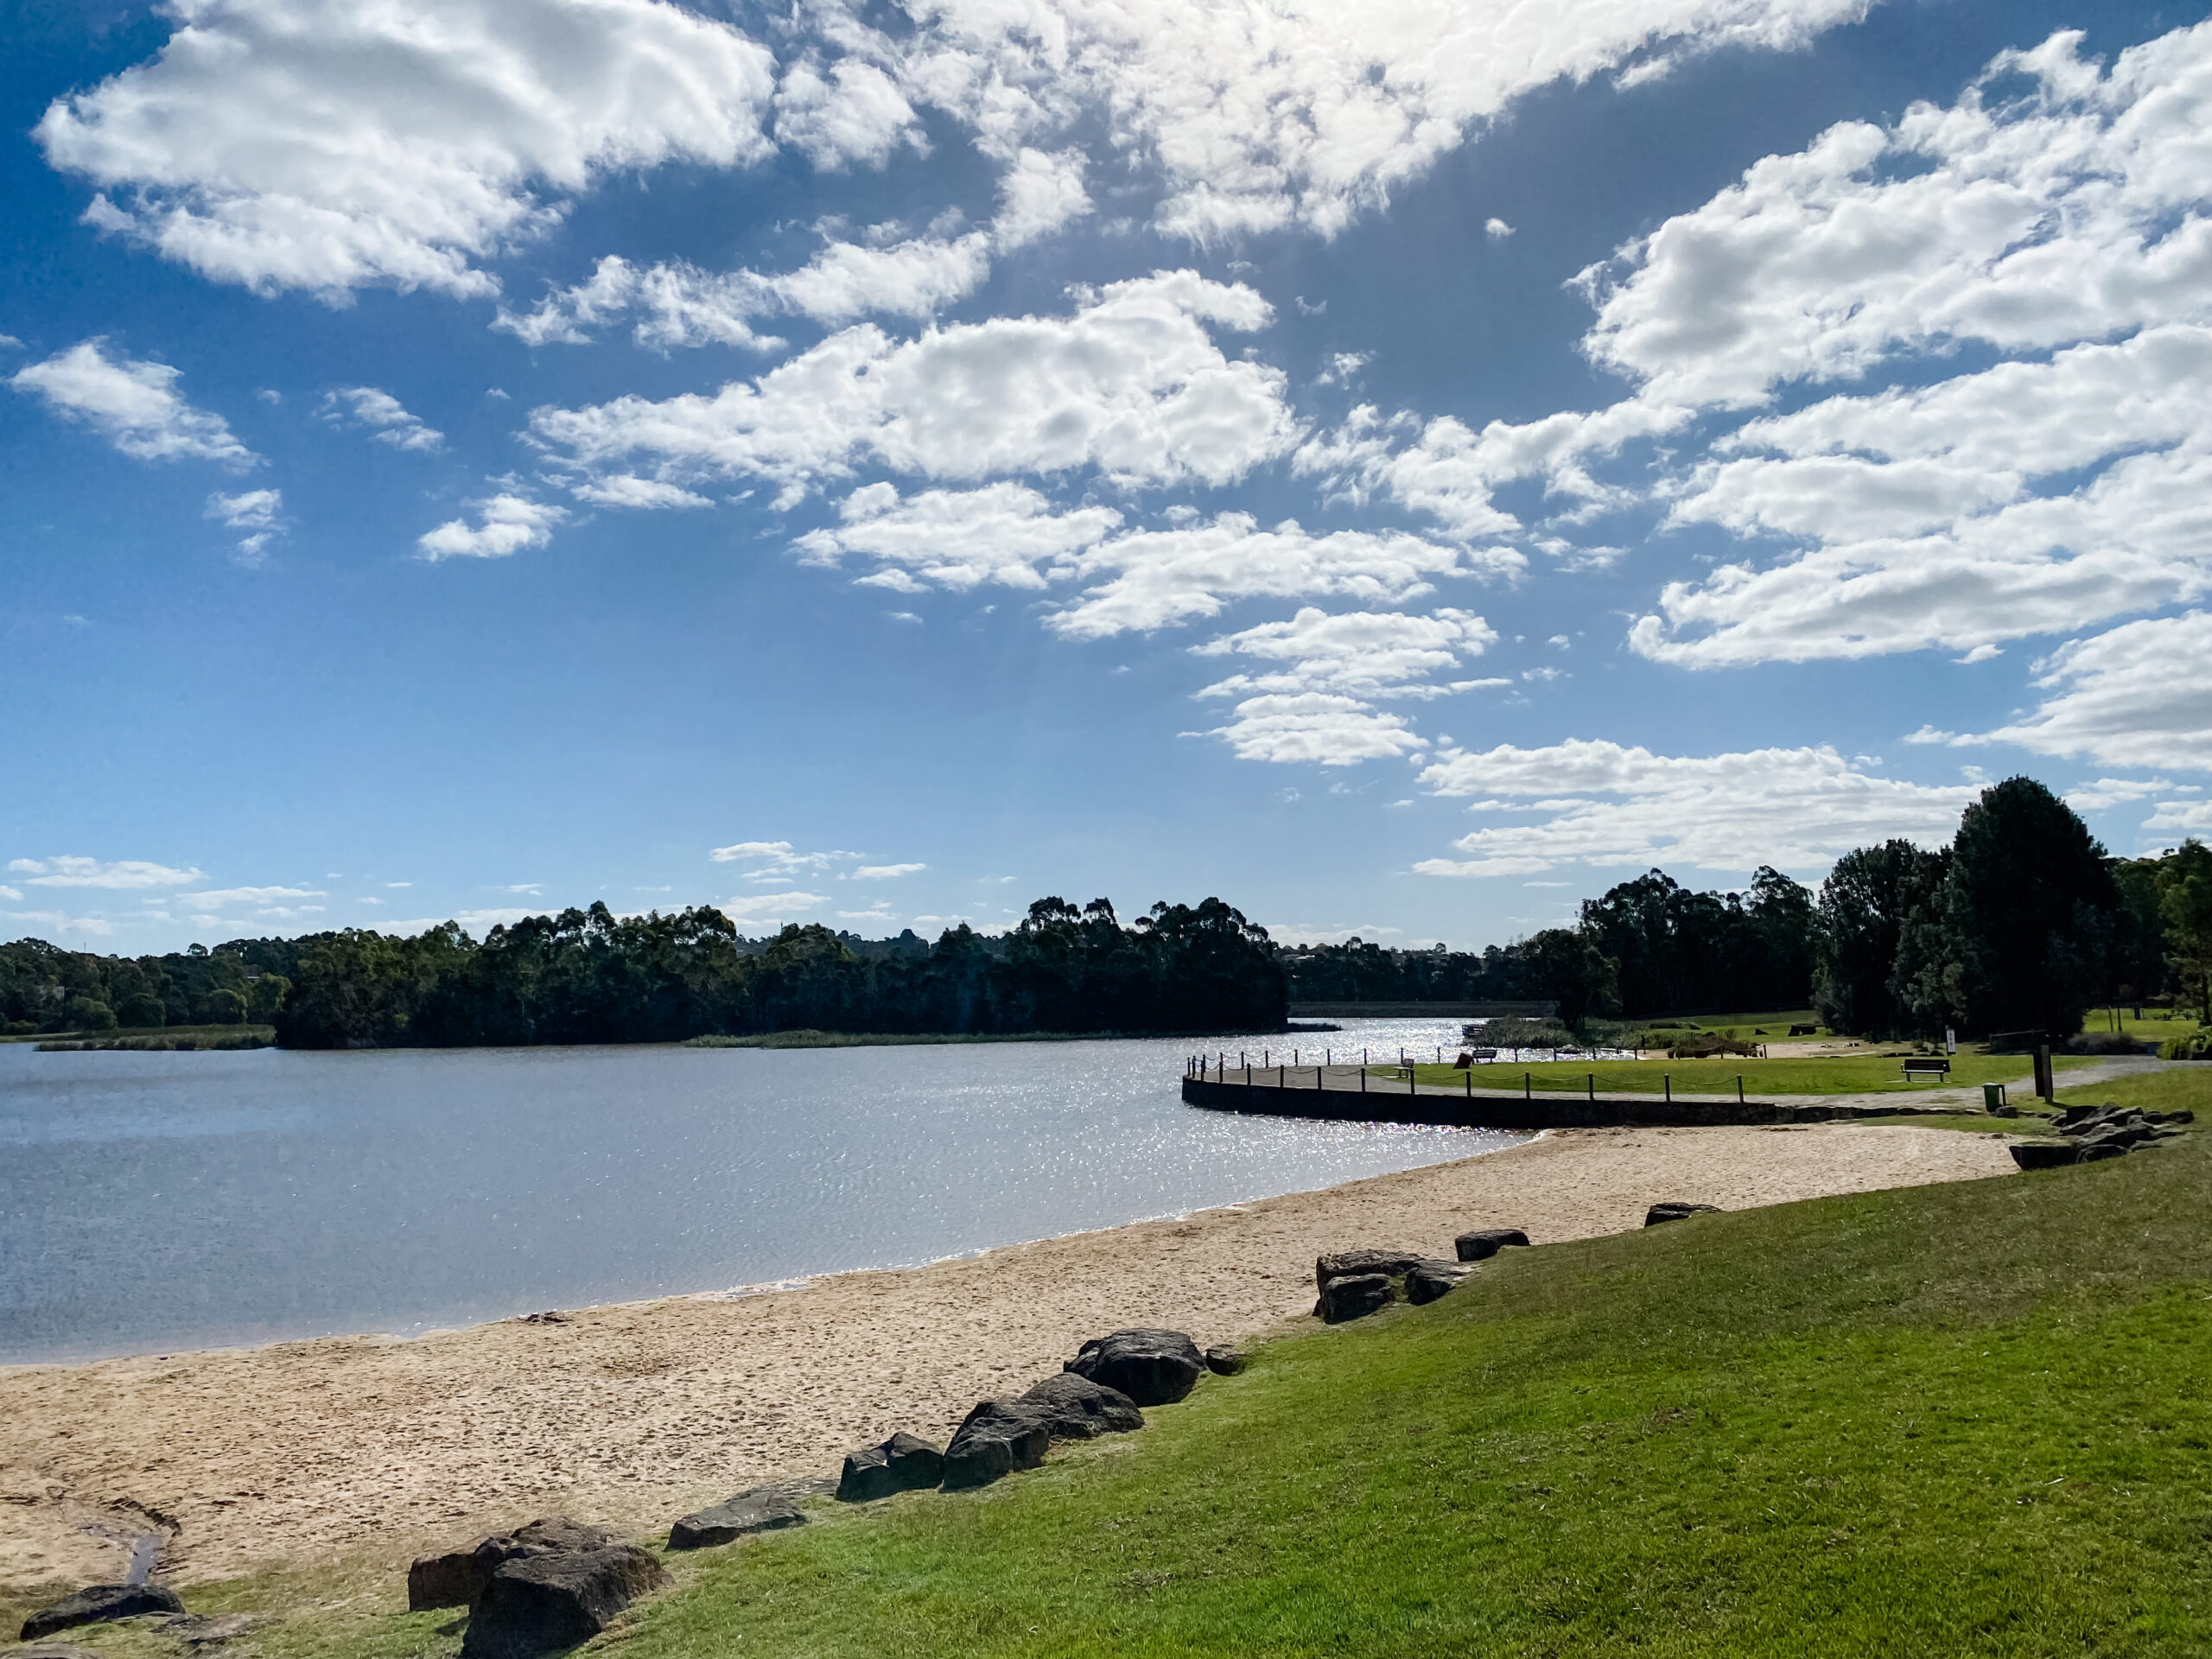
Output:
[[1761,867],[1741,891],[1661,869],[1484,951],[1279,945],[1219,898],[1040,898],[1020,927],[750,940],[712,907],[367,929],[113,958],[0,945],[13,1035],[272,1022],[279,1042],[471,1046],[708,1033],[1272,1031],[1292,1002],[1555,1002],[1568,1024],[1814,1006],[1851,1035],[2079,1029],[2099,1002],[2212,1002],[2212,849],[2112,858],[2033,779],[1982,792],[1949,847],[1858,847],[1818,891]]

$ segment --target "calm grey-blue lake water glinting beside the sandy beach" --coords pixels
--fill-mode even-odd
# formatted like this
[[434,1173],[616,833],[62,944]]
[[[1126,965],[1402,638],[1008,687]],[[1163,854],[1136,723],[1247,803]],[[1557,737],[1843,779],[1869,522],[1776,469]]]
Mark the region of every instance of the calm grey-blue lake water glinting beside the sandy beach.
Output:
[[[1455,1035],[1374,1020],[1292,1042],[1380,1064]],[[0,1363],[914,1265],[1524,1139],[1197,1110],[1177,1093],[1197,1046],[0,1044]]]

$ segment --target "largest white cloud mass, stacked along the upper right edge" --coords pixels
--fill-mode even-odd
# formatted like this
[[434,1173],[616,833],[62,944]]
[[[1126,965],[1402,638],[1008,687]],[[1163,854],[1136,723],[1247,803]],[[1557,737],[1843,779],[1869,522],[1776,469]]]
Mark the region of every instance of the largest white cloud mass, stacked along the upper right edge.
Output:
[[1960,341],[2024,358],[1723,438],[1674,520],[1809,546],[1670,584],[1637,650],[1986,661],[2212,591],[2212,24],[2108,71],[2077,49],[2000,58],[2035,77],[2022,102],[1975,88],[1770,157],[1597,281],[1590,352],[1646,405],[1759,407]]

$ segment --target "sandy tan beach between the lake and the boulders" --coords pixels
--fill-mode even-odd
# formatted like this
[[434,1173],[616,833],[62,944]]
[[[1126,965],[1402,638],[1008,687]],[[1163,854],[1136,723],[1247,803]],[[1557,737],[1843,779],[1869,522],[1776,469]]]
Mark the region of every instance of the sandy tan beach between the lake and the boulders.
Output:
[[0,1369],[0,1586],[113,1577],[142,1511],[164,1573],[325,1553],[403,1562],[564,1511],[639,1533],[759,1480],[834,1473],[891,1429],[1060,1369],[1086,1336],[1217,1343],[1307,1314],[1314,1256],[1451,1254],[1475,1225],[1537,1243],[1641,1225],[1655,1199],[1728,1210],[2011,1172],[1995,1135],[1931,1128],[1564,1130],[1486,1157],[1071,1234],[803,1290]]

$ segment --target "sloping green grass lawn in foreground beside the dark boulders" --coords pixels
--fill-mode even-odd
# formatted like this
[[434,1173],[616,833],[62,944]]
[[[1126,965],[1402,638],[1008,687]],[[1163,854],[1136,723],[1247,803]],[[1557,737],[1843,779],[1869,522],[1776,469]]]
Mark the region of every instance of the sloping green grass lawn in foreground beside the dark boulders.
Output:
[[[2212,1108],[2212,1066],[2093,1093],[2124,1091]],[[2212,1652],[2212,1135],[1511,1250],[1148,1416],[980,1493],[670,1557],[677,1590],[604,1646]],[[356,1595],[303,1568],[195,1604],[290,1601],[241,1659],[456,1652],[451,1613]]]

